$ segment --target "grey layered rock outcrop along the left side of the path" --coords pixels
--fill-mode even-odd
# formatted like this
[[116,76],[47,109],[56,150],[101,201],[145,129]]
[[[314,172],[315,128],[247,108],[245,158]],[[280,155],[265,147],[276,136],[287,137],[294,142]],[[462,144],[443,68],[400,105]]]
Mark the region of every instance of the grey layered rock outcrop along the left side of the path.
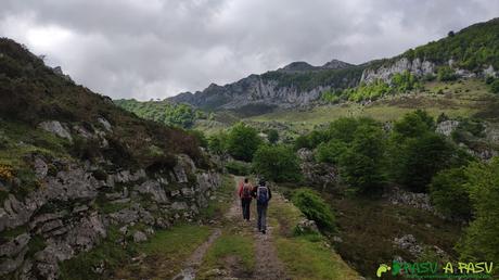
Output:
[[[61,131],[62,126],[53,127]],[[124,228],[124,234],[130,225],[149,226],[130,233],[142,242],[154,233],[151,227],[193,219],[221,180],[187,155],[178,155],[166,174],[120,170],[105,178],[93,176],[93,165],[60,162],[51,174],[52,163],[34,162],[40,188],[25,198],[10,194],[0,205],[0,275],[21,279],[56,279],[61,262],[99,244],[111,226]]]

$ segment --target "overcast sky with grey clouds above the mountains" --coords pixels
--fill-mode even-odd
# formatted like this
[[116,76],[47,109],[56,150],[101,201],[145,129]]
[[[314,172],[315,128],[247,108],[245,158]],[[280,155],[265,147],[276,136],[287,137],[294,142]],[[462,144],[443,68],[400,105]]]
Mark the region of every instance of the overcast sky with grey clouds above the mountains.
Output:
[[0,36],[94,91],[149,100],[392,56],[497,16],[497,0],[0,0]]

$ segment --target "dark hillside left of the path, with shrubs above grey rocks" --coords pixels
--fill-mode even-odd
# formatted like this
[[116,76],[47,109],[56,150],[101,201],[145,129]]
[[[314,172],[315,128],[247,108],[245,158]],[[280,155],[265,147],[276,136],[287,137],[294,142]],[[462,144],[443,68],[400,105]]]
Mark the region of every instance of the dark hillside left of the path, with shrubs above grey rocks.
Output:
[[108,279],[153,228],[207,206],[220,184],[212,164],[183,130],[0,39],[1,279],[56,279],[62,268],[79,271],[67,279]]

